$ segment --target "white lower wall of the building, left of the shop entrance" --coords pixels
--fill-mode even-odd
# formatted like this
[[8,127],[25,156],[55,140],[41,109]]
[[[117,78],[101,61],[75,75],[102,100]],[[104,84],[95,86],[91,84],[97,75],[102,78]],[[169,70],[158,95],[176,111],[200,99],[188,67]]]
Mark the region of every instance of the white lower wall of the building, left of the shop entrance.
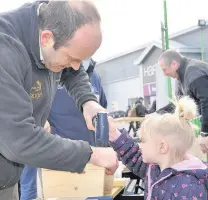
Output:
[[108,110],[111,111],[113,101],[117,101],[120,110],[127,110],[128,99],[143,96],[140,78],[134,77],[116,82],[104,84],[104,90],[108,100]]

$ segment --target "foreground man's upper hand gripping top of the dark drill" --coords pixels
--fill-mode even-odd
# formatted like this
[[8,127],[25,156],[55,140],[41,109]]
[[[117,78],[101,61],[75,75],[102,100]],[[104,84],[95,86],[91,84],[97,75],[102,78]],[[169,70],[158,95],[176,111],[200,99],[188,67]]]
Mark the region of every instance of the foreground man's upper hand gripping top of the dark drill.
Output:
[[93,117],[95,117],[98,112],[107,112],[107,110],[95,101],[88,101],[84,103],[82,107],[87,128],[89,130],[95,130],[95,127],[92,124]]

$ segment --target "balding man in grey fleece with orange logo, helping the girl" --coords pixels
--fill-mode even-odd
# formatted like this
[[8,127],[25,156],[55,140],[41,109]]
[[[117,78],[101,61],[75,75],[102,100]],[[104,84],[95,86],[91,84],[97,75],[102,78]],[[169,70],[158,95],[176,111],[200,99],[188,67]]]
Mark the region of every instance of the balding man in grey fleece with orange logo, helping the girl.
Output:
[[43,129],[63,69],[62,84],[88,126],[105,111],[80,68],[101,40],[100,15],[89,1],[36,1],[0,15],[0,199],[14,199],[24,164],[78,173],[88,162],[116,169],[111,149]]

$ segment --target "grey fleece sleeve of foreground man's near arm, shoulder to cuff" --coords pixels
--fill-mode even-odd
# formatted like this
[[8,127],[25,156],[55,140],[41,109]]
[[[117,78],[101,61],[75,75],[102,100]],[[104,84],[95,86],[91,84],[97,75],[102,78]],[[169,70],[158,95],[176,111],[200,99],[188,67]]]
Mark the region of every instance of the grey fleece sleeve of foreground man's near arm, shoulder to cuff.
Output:
[[0,41],[0,154],[15,163],[82,172],[91,156],[89,144],[62,139],[36,126],[29,96],[32,70],[28,54],[11,38],[0,34]]

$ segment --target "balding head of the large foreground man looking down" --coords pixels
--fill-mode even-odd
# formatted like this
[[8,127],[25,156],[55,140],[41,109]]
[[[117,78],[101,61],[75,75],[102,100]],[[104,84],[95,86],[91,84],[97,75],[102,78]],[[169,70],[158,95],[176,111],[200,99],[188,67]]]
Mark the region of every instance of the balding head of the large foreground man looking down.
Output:
[[50,1],[39,12],[40,47],[44,64],[59,72],[78,70],[82,60],[100,47],[100,15],[87,0]]

